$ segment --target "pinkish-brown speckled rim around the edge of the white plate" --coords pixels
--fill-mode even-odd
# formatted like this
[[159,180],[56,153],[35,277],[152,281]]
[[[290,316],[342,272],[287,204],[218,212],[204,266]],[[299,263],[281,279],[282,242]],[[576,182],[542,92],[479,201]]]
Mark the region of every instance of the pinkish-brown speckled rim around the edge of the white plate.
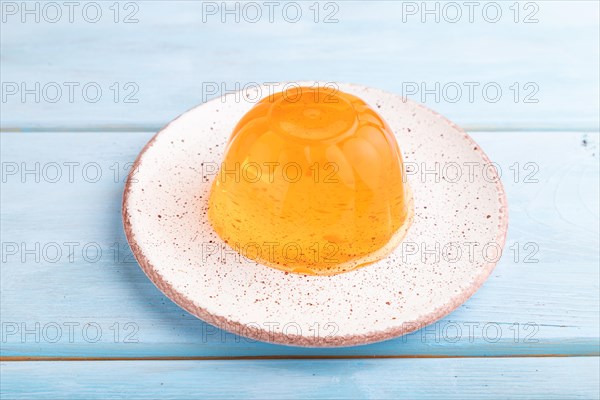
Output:
[[[359,86],[349,84],[350,86]],[[372,88],[370,88],[372,89]],[[383,92],[379,89],[372,89]],[[397,96],[397,95],[395,95]],[[400,97],[400,96],[397,96]],[[215,98],[210,101],[216,101],[220,98]],[[489,157],[483,152],[481,146],[479,146],[462,128],[454,124],[452,121],[444,117],[443,115],[425,107],[422,104],[414,103],[411,100],[404,99],[404,102],[410,102],[416,104],[418,107],[427,110],[433,118],[440,119],[448,124],[450,128],[452,128],[457,133],[461,134],[462,137],[475,148],[476,152],[479,153],[481,158],[486,162],[491,164],[491,160]],[[199,106],[198,106],[199,107]],[[140,154],[137,156],[131,171],[136,171],[141,163],[141,160],[146,153],[146,151],[153,146],[157,137],[164,132],[171,123],[175,120],[179,119],[184,114],[191,112],[196,107],[184,112],[177,116],[173,121],[169,122],[165,127],[163,127],[158,133],[156,133],[152,139],[144,146]],[[504,244],[506,242],[506,234],[508,230],[508,203],[506,199],[506,193],[504,191],[504,187],[500,180],[500,177],[497,175],[496,171],[493,172],[493,178],[496,184],[496,190],[498,194],[498,201],[500,205],[500,220],[498,222],[498,231],[495,239],[495,243],[500,245],[500,248],[504,248]],[[157,272],[156,268],[152,265],[150,260],[146,257],[141,247],[138,245],[135,234],[132,231],[131,221],[129,219],[129,194],[131,191],[131,179],[132,174],[127,178],[125,183],[125,189],[123,192],[123,206],[122,206],[122,217],[123,217],[123,227],[125,230],[125,236],[127,237],[127,241],[131,247],[133,255],[135,256],[137,262],[140,267],[144,271],[144,273],[150,278],[150,280],[154,283],[154,285],[163,292],[168,298],[170,298],[173,302],[175,302],[178,306],[189,312],[190,314],[200,318],[201,320],[214,325],[218,328],[224,329],[226,331],[248,337],[253,340],[269,342],[275,344],[283,344],[290,346],[302,346],[302,347],[344,347],[344,346],[356,346],[356,345],[364,345],[375,342],[380,342],[384,340],[393,339],[402,335],[406,335],[417,331],[427,325],[430,325],[441,318],[447,316],[454,310],[456,310],[459,306],[465,303],[487,280],[490,276],[494,267],[497,264],[495,262],[488,262],[483,264],[483,273],[479,274],[477,279],[475,279],[471,285],[463,290],[460,293],[460,296],[456,296],[449,300],[447,304],[441,307],[437,307],[432,312],[428,314],[421,315],[419,318],[406,321],[402,324],[402,327],[394,327],[381,331],[374,331],[368,334],[360,334],[360,335],[345,335],[345,336],[332,336],[332,337],[313,337],[313,336],[302,336],[302,335],[294,335],[294,334],[283,334],[283,333],[275,333],[270,332],[264,329],[260,329],[256,326],[245,325],[237,321],[233,321],[227,319],[220,315],[215,315],[208,312],[206,309],[201,306],[195,304],[191,299],[183,295],[177,289],[175,289],[163,275]],[[367,267],[368,268],[368,267]]]

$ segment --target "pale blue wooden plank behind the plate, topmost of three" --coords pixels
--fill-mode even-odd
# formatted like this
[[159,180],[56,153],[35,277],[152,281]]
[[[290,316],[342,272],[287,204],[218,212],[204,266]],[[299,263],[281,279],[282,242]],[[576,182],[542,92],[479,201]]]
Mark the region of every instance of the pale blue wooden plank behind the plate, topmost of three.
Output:
[[[598,128],[595,1],[520,2],[516,8],[514,2],[481,2],[472,13],[454,2],[461,13],[456,22],[456,10],[445,2],[322,1],[316,23],[312,1],[296,2],[302,10],[296,23],[286,21],[282,5],[273,23],[264,6],[256,23],[249,21],[254,14],[244,18],[251,10],[241,9],[236,23],[235,14],[221,15],[221,2],[135,1],[127,9],[120,5],[115,23],[113,3],[100,2],[101,18],[91,23],[83,4],[70,22],[58,3],[61,18],[52,23],[54,9],[44,11],[43,2],[36,3],[39,22],[20,2],[7,3],[17,9],[3,14],[0,35],[2,82],[10,86],[3,88],[4,129],[155,130],[236,83],[300,79],[406,94],[470,128]],[[216,4],[216,15],[203,12],[206,3]],[[426,14],[425,7],[438,11]],[[501,14],[492,23],[496,7]],[[324,23],[334,11],[337,22]],[[87,9],[88,20],[94,13]],[[130,14],[134,23],[124,23]],[[472,96],[470,85],[478,85]],[[23,98],[25,89],[33,94]]]

